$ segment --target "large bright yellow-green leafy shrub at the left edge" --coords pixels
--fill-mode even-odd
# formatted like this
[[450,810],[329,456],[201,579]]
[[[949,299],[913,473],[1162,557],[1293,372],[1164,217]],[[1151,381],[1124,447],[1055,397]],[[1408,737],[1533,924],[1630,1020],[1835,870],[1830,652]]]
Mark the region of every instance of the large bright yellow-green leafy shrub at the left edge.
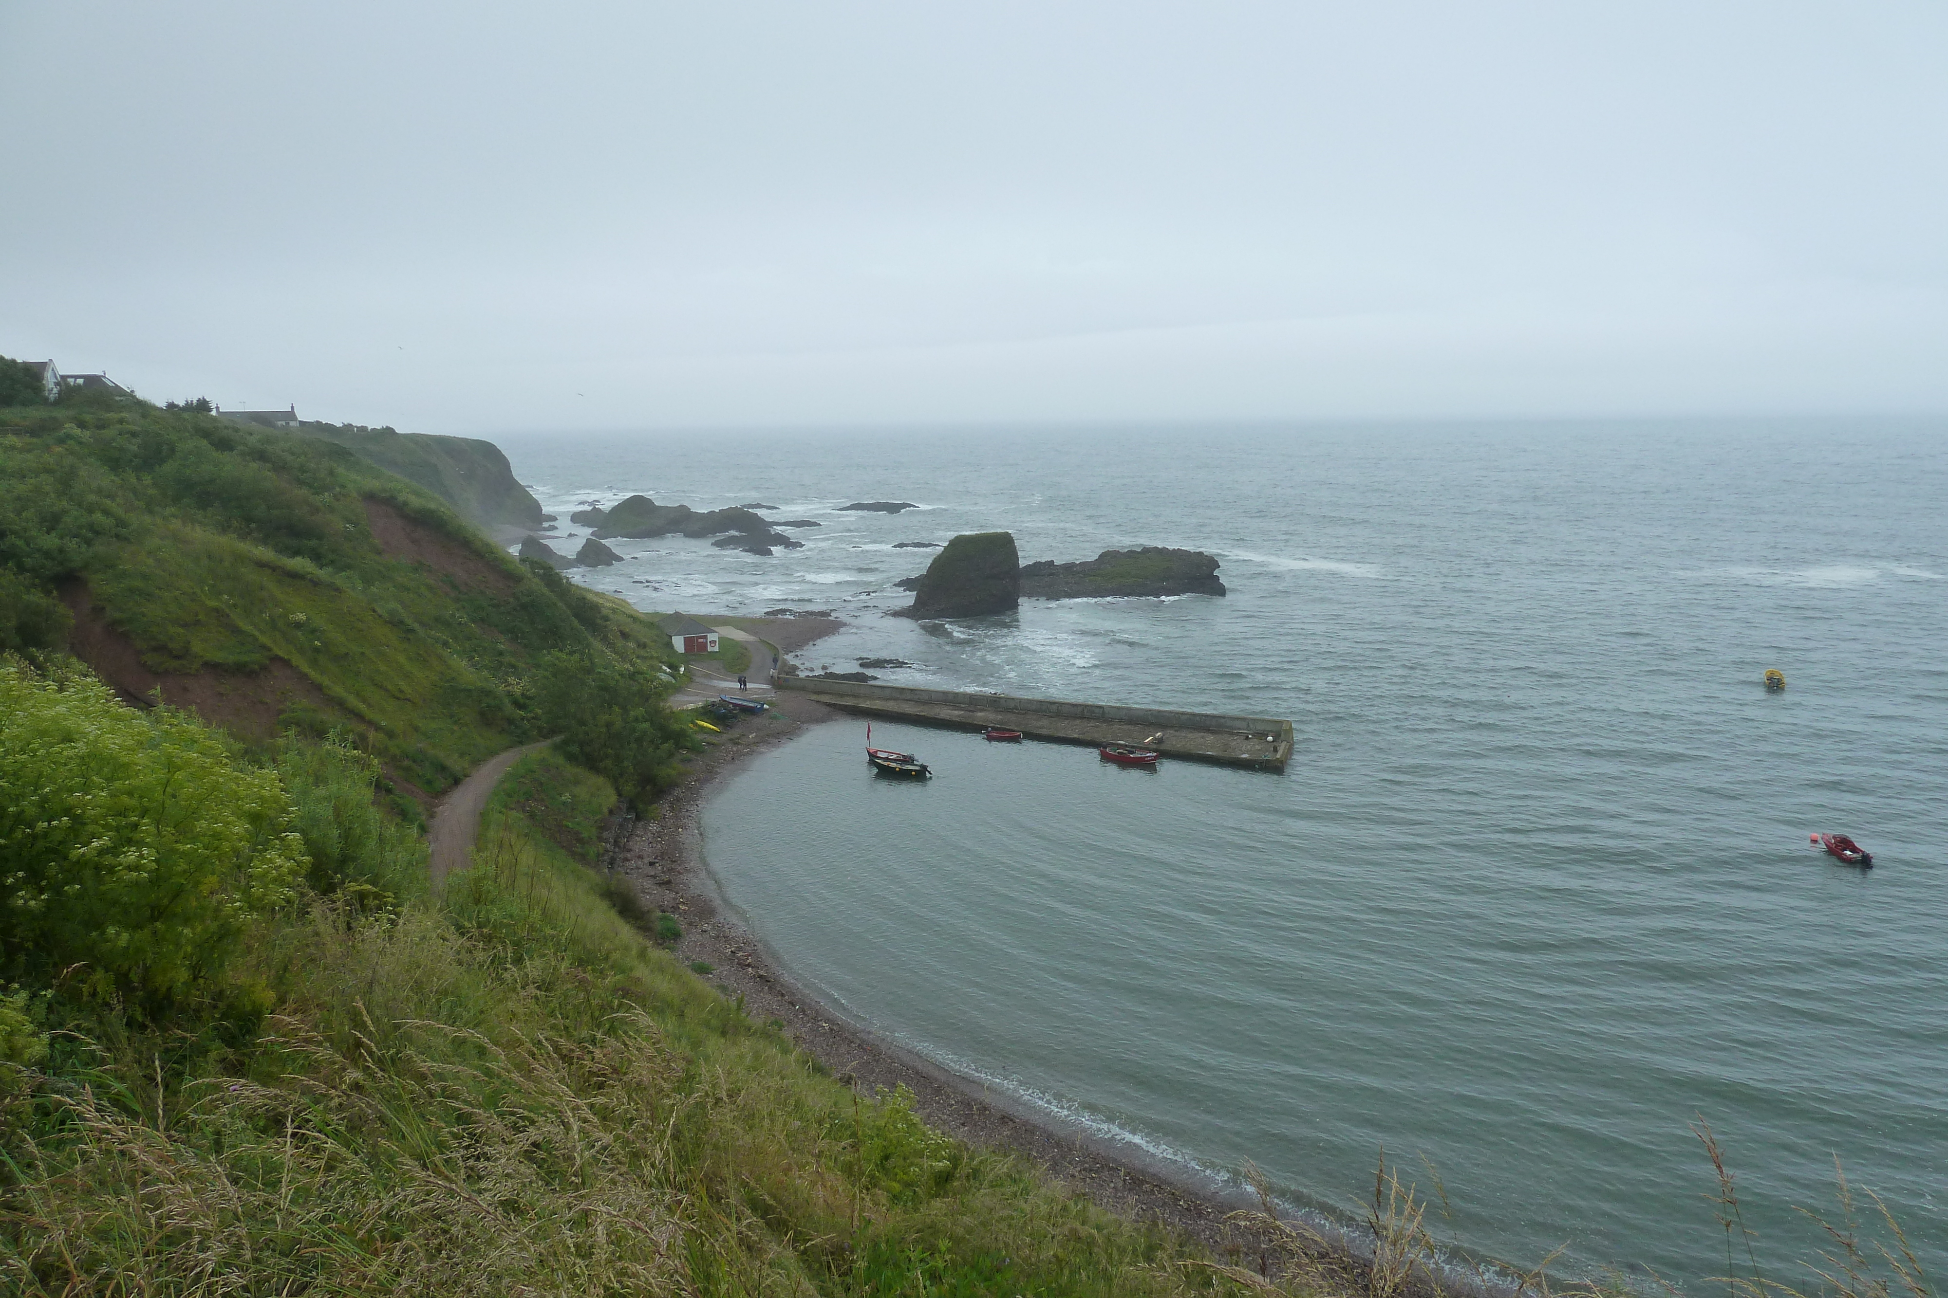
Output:
[[8,975],[158,1004],[212,977],[290,895],[304,847],[277,776],[171,708],[0,660],[0,950]]

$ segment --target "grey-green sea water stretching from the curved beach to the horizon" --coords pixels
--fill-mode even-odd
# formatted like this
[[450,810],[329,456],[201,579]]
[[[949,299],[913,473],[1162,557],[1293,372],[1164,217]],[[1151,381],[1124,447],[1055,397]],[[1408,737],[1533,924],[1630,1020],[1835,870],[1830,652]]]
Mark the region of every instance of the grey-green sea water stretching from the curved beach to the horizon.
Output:
[[[939,778],[875,782],[851,724],[756,759],[711,868],[861,1022],[1297,1201],[1426,1158],[1443,1236],[1580,1271],[1722,1271],[1703,1117],[1761,1259],[1810,1255],[1790,1205],[1837,1154],[1948,1273],[1948,424],[501,444],[563,514],[820,520],[586,578],[838,609],[810,669],[1293,718],[1282,776],[880,724]],[[873,498],[925,508],[836,512]],[[896,541],[988,527],[1025,560],[1206,549],[1231,595],[882,615],[931,555]]]

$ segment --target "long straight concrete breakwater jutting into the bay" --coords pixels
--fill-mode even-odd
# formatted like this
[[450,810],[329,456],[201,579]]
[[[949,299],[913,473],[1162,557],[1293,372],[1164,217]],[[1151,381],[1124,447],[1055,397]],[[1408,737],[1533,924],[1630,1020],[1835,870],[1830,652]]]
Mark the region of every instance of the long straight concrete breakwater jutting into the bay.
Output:
[[986,730],[1001,726],[1034,739],[1062,743],[1140,743],[1167,757],[1218,761],[1233,767],[1284,771],[1292,757],[1292,722],[1272,716],[1231,716],[1223,712],[1177,712],[1171,708],[1124,708],[1106,703],[1066,703],[1062,699],[1019,699],[1015,695],[976,695],[955,689],[916,689],[912,685],[867,685],[779,675],[779,689],[791,689],[847,712],[898,716],[939,726]]

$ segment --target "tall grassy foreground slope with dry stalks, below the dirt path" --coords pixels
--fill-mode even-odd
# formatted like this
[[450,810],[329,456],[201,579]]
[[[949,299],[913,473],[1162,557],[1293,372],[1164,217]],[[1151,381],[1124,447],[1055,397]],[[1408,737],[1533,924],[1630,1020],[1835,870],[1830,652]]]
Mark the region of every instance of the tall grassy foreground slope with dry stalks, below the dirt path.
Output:
[[[370,882],[399,878],[403,841],[343,739],[290,736],[271,767],[84,677],[8,671],[35,734],[62,708],[109,741],[150,728],[150,763],[193,753],[316,854],[286,852],[282,895],[226,919],[232,957],[148,1010],[43,957],[0,992],[6,1292],[1235,1290],[929,1131],[904,1092],[857,1098],[647,942],[582,864],[614,794],[559,755],[497,790],[442,899],[386,903]],[[49,771],[49,798],[92,788]],[[105,821],[105,850],[150,833]]]

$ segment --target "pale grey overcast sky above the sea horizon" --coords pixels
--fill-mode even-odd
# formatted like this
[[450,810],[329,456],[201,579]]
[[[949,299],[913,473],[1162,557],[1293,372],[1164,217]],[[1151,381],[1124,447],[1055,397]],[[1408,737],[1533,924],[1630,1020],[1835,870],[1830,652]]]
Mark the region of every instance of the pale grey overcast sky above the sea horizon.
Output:
[[0,0],[0,354],[419,432],[1948,411],[1948,4]]

